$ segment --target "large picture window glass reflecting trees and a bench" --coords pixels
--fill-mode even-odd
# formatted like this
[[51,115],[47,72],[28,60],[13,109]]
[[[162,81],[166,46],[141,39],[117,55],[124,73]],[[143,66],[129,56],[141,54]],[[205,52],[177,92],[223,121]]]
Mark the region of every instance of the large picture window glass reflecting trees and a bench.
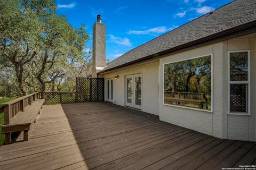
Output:
[[164,104],[212,109],[212,55],[164,64]]

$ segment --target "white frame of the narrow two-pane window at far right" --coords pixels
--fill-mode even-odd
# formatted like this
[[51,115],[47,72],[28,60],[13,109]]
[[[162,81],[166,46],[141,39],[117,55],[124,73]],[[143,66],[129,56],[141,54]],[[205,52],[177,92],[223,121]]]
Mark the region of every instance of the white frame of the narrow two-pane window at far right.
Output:
[[[248,79],[247,81],[230,81],[230,53],[248,53]],[[230,112],[230,84],[247,84],[247,112]],[[251,115],[251,54],[250,50],[231,50],[228,51],[228,115]]]

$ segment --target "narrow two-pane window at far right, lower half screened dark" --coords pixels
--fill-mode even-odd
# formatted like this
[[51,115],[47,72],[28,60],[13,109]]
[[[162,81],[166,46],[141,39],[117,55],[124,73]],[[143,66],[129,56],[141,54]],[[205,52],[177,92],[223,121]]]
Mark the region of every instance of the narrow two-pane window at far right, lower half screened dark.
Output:
[[229,113],[250,113],[250,52],[229,52]]

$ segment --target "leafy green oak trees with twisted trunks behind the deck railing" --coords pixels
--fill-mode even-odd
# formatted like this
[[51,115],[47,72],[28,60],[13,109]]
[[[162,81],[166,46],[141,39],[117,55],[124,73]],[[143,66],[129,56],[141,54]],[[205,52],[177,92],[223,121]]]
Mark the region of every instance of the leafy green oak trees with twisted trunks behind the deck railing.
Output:
[[1,1],[0,96],[73,90],[75,77],[91,74],[87,40],[85,25],[72,27],[53,0]]

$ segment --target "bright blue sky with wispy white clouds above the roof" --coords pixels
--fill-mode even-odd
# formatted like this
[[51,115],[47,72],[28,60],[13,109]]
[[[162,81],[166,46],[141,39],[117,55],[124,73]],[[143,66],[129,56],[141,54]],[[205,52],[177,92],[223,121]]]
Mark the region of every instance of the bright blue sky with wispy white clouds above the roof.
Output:
[[[97,14],[101,14],[102,23],[107,27],[106,58],[112,61],[130,49],[229,2],[231,0],[57,0],[57,7],[74,27],[84,23],[89,35],[92,35]],[[88,47],[92,48],[91,40]]]

